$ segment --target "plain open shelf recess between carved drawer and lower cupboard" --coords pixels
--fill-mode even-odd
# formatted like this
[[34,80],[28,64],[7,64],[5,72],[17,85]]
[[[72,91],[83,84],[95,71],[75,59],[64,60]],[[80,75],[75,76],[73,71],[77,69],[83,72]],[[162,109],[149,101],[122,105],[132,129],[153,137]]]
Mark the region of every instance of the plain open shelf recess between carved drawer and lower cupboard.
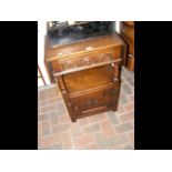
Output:
[[103,65],[63,75],[69,93],[82,92],[113,83],[113,68]]

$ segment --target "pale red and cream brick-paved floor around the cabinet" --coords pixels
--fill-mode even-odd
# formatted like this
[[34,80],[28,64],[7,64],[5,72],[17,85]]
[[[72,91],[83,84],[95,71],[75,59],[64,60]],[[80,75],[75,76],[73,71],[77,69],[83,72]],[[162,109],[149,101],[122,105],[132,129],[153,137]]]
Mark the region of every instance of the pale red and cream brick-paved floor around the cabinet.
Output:
[[39,88],[38,101],[38,149],[134,149],[134,73],[124,68],[117,112],[105,112],[72,123],[55,85]]

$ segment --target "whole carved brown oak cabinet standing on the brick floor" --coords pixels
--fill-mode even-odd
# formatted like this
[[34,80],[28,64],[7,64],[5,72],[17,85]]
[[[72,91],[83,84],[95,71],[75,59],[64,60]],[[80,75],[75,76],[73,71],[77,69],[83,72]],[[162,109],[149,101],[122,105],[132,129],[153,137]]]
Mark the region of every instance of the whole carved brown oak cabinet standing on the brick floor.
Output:
[[72,122],[118,109],[125,50],[117,32],[57,49],[45,39],[49,75],[58,83]]

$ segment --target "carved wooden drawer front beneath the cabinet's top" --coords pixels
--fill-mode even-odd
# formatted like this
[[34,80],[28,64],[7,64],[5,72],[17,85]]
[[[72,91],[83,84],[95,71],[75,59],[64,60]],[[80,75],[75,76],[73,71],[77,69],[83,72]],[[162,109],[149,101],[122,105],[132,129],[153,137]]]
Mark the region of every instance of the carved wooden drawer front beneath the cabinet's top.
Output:
[[121,57],[121,47],[107,48],[93,52],[84,52],[78,55],[68,55],[53,60],[53,72],[74,70],[82,67],[89,67],[103,62],[110,62]]

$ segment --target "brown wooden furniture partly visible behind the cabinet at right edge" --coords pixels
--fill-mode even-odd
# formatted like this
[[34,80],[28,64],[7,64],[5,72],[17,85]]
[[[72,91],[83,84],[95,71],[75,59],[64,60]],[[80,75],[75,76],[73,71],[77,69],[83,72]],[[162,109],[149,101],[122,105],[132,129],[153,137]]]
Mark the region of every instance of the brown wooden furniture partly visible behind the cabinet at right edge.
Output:
[[120,34],[128,44],[128,55],[123,60],[123,64],[134,71],[134,21],[121,21]]

